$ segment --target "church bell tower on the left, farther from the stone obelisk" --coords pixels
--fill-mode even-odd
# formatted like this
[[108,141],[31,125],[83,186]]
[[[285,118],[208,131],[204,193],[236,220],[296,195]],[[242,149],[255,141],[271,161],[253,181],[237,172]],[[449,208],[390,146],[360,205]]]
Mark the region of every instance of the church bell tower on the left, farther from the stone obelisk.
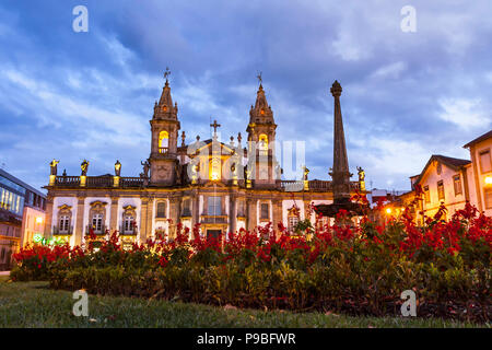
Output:
[[177,138],[180,128],[177,118],[177,104],[173,105],[167,77],[162,90],[161,100],[155,102],[154,115],[150,120],[152,130],[151,154],[149,158],[151,185],[171,186],[175,184],[177,159]]

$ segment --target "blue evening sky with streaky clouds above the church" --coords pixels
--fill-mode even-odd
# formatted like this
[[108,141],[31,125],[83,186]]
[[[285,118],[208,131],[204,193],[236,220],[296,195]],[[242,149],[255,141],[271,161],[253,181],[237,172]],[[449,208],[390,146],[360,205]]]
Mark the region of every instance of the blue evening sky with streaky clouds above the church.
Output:
[[[89,32],[72,9],[89,9]],[[417,33],[400,28],[417,9]],[[138,176],[153,104],[172,70],[187,142],[246,135],[262,72],[277,138],[305,141],[309,178],[332,163],[331,83],[340,81],[351,171],[367,187],[409,189],[431,154],[492,127],[490,0],[0,2],[0,166],[48,183],[69,175]],[[355,176],[354,176],[355,178]]]

